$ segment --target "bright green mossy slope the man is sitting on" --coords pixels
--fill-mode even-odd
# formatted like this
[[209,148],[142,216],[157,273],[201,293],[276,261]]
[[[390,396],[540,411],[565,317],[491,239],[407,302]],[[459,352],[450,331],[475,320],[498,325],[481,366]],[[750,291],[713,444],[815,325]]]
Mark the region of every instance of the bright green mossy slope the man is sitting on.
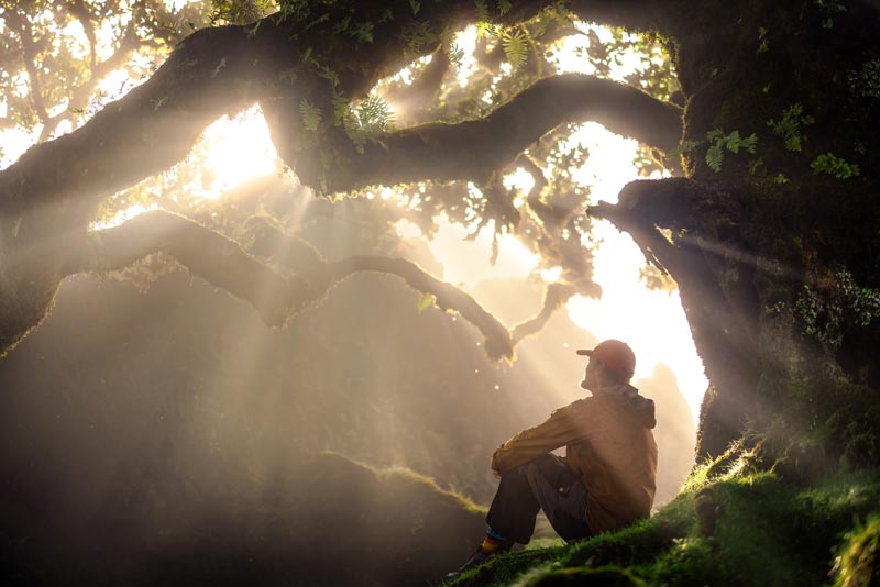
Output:
[[795,484],[755,456],[697,467],[639,524],[502,555],[455,585],[876,585],[880,470]]

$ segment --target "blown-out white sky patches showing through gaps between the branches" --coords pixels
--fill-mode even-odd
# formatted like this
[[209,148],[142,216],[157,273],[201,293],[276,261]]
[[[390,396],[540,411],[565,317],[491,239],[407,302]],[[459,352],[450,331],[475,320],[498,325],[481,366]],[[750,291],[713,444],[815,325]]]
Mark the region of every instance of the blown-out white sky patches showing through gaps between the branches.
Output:
[[[606,36],[604,29],[595,25],[579,25],[591,29],[600,38]],[[471,53],[476,32],[474,27],[457,36],[457,45],[464,57],[459,64],[459,81],[462,85],[473,70]],[[557,49],[556,58],[560,73],[592,73],[585,59],[579,57],[586,41],[569,37]],[[612,71],[613,78],[623,78],[631,68],[639,67],[641,57],[624,56],[622,64]],[[402,71],[404,79],[408,71]],[[128,77],[120,69],[111,73],[102,84],[105,98],[110,101],[141,82]],[[394,104],[391,104],[394,108]],[[33,142],[35,136],[9,130],[0,134],[2,166],[11,164]],[[590,187],[590,201],[616,202],[619,190],[628,181],[639,178],[632,160],[637,143],[608,132],[596,123],[586,123],[573,133],[571,142],[580,142],[590,152],[586,164],[574,170],[576,180]],[[222,198],[224,192],[234,189],[250,179],[283,173],[284,164],[277,157],[270,139],[268,129],[257,107],[231,119],[218,120],[202,134],[201,142],[194,152],[201,152],[207,162],[200,173],[200,193],[206,199]],[[656,177],[656,176],[653,176]],[[531,177],[518,170],[510,174],[505,182],[527,191]],[[372,195],[369,195],[369,197]],[[119,224],[152,207],[135,204],[110,220],[96,223],[94,228]],[[428,243],[430,252],[442,264],[443,275],[438,276],[453,284],[462,284],[473,289],[481,280],[498,277],[527,278],[536,270],[537,258],[515,237],[506,235],[501,241],[499,254],[494,265],[490,263],[491,233],[484,230],[477,239],[465,241],[466,229],[439,219],[436,237]],[[418,229],[407,222],[397,225],[400,235],[408,240],[421,239]],[[565,308],[571,320],[588,331],[598,340],[615,337],[630,344],[636,352],[638,364],[635,379],[649,377],[658,363],[669,366],[678,378],[679,389],[685,396],[691,414],[696,421],[700,403],[707,381],[702,362],[696,355],[693,340],[681,307],[678,290],[671,292],[650,290],[639,278],[639,269],[645,266],[645,257],[626,234],[620,234],[609,222],[594,222],[594,240],[600,242],[595,252],[594,279],[603,289],[598,300],[576,296]],[[552,270],[543,270],[540,277],[552,281]],[[477,301],[487,303],[488,300]],[[525,311],[537,313],[539,308]],[[508,326],[512,324],[507,324]],[[293,326],[296,328],[296,326]],[[573,353],[583,344],[570,341],[560,353]],[[580,373],[572,373],[572,386],[576,386]]]

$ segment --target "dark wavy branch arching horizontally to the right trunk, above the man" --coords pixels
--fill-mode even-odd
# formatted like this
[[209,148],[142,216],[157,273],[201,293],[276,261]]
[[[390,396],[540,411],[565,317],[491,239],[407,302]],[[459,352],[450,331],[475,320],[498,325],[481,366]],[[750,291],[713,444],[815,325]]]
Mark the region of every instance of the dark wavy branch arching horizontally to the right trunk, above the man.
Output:
[[[624,136],[671,149],[681,136],[681,113],[678,106],[615,81],[562,75],[535,82],[484,119],[388,133],[370,143],[363,154],[340,133],[336,147],[346,157],[332,162],[328,166],[332,173],[323,178],[317,154],[304,162],[302,152],[296,152],[288,164],[309,185],[321,186],[324,179],[330,191],[426,179],[485,182],[529,144],[566,122],[600,122]],[[284,151],[279,148],[288,158]]]

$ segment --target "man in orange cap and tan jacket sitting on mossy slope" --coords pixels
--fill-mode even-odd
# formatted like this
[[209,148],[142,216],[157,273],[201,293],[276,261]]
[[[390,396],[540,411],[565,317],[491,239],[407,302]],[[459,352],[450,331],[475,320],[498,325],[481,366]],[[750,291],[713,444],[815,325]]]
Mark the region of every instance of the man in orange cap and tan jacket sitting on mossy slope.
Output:
[[[581,387],[592,397],[556,410],[492,455],[501,476],[486,517],[486,538],[454,579],[487,557],[526,544],[543,510],[565,541],[616,530],[651,513],[657,475],[653,401],[629,385],[636,355],[620,341],[592,351]],[[565,458],[550,451],[565,446]]]

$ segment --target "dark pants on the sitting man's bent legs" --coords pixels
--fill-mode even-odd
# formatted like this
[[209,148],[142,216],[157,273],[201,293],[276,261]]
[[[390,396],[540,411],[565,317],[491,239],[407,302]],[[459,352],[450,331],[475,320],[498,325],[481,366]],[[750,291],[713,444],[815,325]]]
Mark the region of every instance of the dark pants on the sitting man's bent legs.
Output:
[[541,455],[502,475],[486,523],[507,540],[526,544],[535,532],[539,510],[565,541],[592,534],[584,521],[586,487],[578,472],[553,454]]

